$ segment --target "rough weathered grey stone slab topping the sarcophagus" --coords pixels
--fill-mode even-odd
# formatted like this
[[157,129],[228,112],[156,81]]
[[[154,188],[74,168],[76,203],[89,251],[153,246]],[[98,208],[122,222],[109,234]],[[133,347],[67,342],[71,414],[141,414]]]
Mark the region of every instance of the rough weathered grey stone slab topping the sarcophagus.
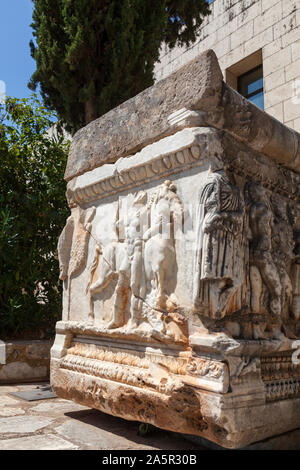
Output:
[[191,126],[224,129],[278,163],[300,164],[300,137],[223,82],[208,50],[74,136],[66,168],[74,176],[132,155]]

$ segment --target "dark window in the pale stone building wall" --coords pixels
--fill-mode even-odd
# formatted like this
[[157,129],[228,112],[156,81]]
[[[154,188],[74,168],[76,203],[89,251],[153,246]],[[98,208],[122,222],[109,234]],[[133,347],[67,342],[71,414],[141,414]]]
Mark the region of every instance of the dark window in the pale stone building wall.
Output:
[[238,77],[238,92],[264,109],[264,80],[262,65]]

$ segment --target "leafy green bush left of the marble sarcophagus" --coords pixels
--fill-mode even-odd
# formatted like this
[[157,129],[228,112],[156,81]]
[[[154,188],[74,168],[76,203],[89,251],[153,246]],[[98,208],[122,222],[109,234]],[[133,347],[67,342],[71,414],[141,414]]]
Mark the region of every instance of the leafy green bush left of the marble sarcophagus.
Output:
[[45,337],[61,315],[56,245],[68,143],[35,97],[0,106],[0,338]]

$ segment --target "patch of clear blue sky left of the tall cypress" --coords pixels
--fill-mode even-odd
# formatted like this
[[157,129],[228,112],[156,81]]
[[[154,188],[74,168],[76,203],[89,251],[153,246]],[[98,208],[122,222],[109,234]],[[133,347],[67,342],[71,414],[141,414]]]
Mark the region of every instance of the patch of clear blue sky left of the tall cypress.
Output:
[[17,98],[31,93],[27,83],[35,70],[29,49],[32,9],[31,0],[0,0],[0,81],[6,94]]

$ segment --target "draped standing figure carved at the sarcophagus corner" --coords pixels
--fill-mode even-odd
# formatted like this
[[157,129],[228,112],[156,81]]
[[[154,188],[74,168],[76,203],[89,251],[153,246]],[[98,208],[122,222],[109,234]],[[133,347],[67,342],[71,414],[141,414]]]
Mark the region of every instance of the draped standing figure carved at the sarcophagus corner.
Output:
[[243,202],[224,171],[209,172],[196,216],[194,307],[217,319],[241,308]]

